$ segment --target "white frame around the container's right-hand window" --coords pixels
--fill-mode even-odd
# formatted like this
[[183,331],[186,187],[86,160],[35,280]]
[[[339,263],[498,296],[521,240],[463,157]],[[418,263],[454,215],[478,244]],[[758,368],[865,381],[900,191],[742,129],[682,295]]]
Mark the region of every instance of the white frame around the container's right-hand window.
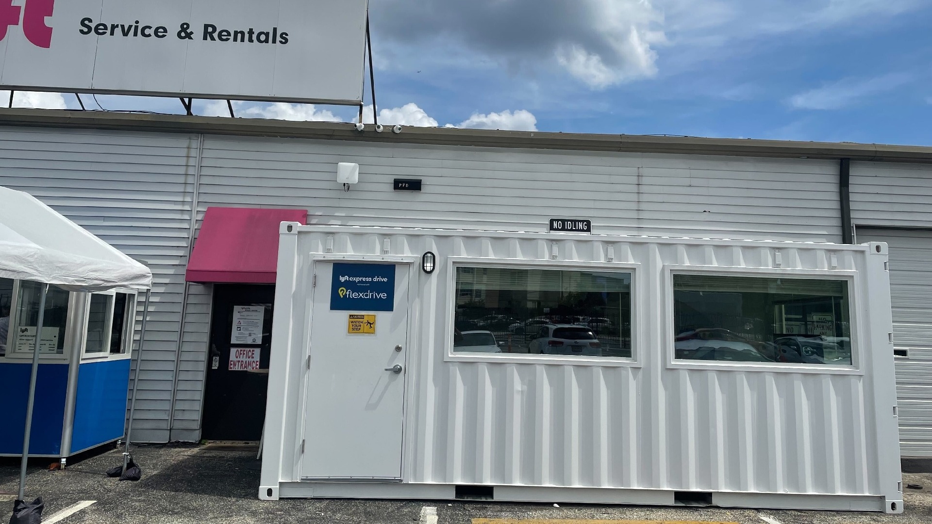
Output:
[[[713,360],[677,359],[676,355],[676,315],[673,275],[692,274],[720,277],[747,278],[786,278],[797,280],[835,280],[848,283],[848,318],[851,331],[851,365],[825,364],[785,364],[785,363],[751,363],[723,362]],[[665,265],[663,271],[665,291],[664,314],[664,351],[666,368],[669,369],[705,369],[708,371],[764,371],[769,373],[813,373],[834,375],[864,375],[861,366],[863,352],[861,340],[866,340],[861,331],[862,314],[860,304],[862,290],[857,271],[846,269],[780,269],[780,268],[736,268],[728,266],[683,266]]]

